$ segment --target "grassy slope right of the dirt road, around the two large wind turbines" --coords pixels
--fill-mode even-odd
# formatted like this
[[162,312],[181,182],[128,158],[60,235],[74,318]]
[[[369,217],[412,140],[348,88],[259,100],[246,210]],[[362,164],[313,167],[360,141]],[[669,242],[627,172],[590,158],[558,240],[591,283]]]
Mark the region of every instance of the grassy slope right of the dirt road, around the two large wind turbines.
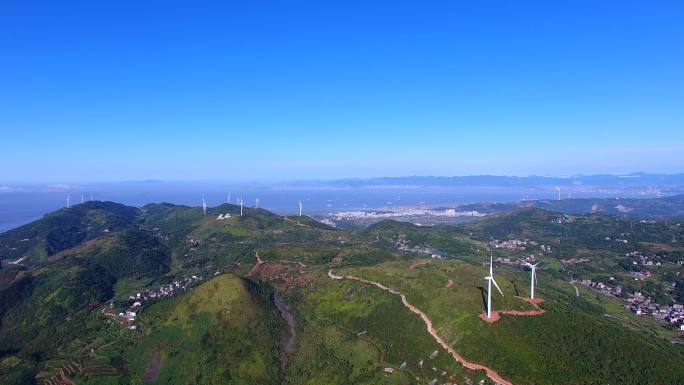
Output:
[[[514,293],[510,281],[524,284],[524,275],[497,271],[507,297],[497,293],[494,308],[525,307],[510,298]],[[431,261],[415,270],[407,269],[405,263],[389,263],[342,273],[378,280],[406,293],[409,301],[432,317],[457,351],[516,384],[675,384],[684,375],[680,349],[616,325],[602,315],[603,309],[575,298],[569,285],[556,286],[563,282],[547,280],[540,286],[539,295],[547,300],[546,314],[503,316],[487,325],[477,318],[483,311],[477,286],[484,282],[479,282],[484,268]],[[447,279],[455,282],[451,289],[443,287]],[[526,287],[521,291],[526,292]]]

